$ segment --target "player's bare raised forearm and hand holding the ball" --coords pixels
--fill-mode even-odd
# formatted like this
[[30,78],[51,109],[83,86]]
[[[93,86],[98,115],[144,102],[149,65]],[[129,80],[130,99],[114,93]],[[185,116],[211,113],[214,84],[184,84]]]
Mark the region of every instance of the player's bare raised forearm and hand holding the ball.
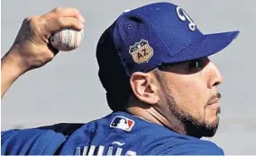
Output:
[[24,19],[13,46],[1,60],[1,98],[22,74],[50,62],[58,50],[50,47],[50,35],[63,28],[81,30],[84,18],[75,8],[56,8]]

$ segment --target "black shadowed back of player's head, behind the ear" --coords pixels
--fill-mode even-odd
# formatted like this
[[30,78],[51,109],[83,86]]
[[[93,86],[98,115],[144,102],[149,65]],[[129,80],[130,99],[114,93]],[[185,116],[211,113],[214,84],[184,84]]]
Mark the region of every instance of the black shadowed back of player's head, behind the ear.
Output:
[[132,90],[130,76],[125,73],[120,56],[116,52],[118,49],[110,39],[113,38],[111,31],[105,30],[99,39],[96,58],[99,65],[98,76],[105,88],[108,106],[114,111],[119,111],[126,107]]

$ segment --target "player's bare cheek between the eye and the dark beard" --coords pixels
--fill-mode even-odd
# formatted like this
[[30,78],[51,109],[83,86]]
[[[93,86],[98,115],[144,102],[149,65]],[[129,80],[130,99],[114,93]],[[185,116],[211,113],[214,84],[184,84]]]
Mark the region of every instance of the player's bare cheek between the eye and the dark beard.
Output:
[[191,81],[190,79],[189,81],[172,83],[169,87],[179,108],[182,108],[193,117],[203,119],[207,99],[204,83]]

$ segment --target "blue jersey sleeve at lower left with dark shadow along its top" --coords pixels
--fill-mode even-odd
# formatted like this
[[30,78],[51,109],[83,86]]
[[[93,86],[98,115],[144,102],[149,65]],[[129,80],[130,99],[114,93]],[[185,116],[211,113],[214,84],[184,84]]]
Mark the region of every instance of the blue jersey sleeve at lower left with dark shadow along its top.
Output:
[[[1,154],[30,154],[53,152],[54,147],[64,142],[66,135],[72,133],[80,124],[57,124],[31,129],[12,129],[1,132]],[[39,144],[45,144],[42,149]]]

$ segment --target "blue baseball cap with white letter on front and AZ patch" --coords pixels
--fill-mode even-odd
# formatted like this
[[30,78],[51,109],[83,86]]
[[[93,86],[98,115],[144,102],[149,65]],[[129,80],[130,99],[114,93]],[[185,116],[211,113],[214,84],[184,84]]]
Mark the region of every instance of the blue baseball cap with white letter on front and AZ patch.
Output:
[[238,34],[203,34],[178,5],[148,4],[123,13],[105,30],[96,49],[99,77],[106,91],[116,93],[134,72],[211,56]]

